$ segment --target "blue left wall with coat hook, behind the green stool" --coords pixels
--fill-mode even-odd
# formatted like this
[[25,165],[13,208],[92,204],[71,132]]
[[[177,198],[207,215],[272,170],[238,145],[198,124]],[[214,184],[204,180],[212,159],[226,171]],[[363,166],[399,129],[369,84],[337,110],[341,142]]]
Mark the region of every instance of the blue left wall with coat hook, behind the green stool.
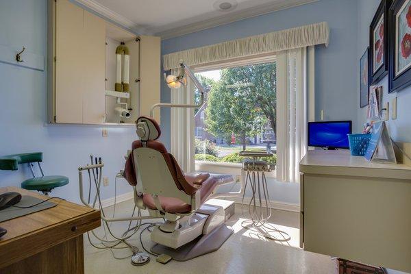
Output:
[[[0,45],[24,45],[46,56],[47,0],[0,0],[0,26]],[[136,138],[134,128],[109,128],[103,138],[100,127],[47,125],[46,74],[0,62],[0,155],[43,151],[45,173],[70,179],[53,195],[72,201],[79,201],[77,167],[88,163],[90,153],[99,155],[105,162],[103,173],[110,178],[103,198],[112,197],[114,175],[123,169],[123,155]],[[31,177],[27,166],[20,168],[0,171],[0,186],[20,186]],[[132,190],[124,180],[118,184],[119,193]]]

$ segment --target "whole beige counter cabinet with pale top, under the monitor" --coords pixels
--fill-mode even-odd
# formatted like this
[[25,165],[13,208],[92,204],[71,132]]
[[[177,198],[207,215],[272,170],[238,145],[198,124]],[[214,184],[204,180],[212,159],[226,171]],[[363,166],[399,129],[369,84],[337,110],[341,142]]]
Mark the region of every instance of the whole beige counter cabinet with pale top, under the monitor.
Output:
[[411,272],[411,166],[315,150],[299,169],[304,250]]

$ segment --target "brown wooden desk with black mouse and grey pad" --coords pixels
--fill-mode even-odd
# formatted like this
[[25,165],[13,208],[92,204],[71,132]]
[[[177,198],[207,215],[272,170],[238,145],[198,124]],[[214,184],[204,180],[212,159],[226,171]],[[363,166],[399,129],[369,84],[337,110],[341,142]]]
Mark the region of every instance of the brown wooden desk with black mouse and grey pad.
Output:
[[[40,199],[21,188],[0,188]],[[0,273],[82,274],[83,234],[100,226],[99,210],[52,199],[58,206],[0,223],[8,233],[0,240]]]

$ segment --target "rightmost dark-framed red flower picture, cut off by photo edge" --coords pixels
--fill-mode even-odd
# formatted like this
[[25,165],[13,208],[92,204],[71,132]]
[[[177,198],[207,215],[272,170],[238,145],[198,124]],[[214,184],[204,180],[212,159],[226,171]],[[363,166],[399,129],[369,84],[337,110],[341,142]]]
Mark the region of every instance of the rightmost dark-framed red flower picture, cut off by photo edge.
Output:
[[411,0],[397,0],[389,10],[389,92],[411,84]]

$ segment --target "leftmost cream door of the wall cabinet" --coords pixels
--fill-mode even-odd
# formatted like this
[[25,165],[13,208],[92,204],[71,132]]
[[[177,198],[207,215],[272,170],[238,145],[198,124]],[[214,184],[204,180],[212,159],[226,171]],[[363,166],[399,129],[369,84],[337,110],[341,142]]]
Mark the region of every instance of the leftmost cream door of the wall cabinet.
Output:
[[84,10],[55,3],[55,122],[83,123],[82,50]]

